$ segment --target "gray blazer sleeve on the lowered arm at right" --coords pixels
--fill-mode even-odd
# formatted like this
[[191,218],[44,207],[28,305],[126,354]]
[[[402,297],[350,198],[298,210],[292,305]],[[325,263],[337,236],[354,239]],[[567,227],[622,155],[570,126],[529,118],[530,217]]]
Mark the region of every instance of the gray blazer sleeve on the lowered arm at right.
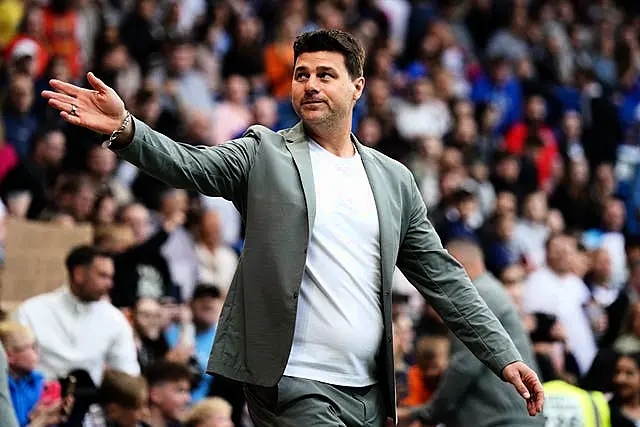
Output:
[[396,264],[460,341],[502,378],[502,370],[522,356],[462,266],[443,248],[410,181],[406,232]]

